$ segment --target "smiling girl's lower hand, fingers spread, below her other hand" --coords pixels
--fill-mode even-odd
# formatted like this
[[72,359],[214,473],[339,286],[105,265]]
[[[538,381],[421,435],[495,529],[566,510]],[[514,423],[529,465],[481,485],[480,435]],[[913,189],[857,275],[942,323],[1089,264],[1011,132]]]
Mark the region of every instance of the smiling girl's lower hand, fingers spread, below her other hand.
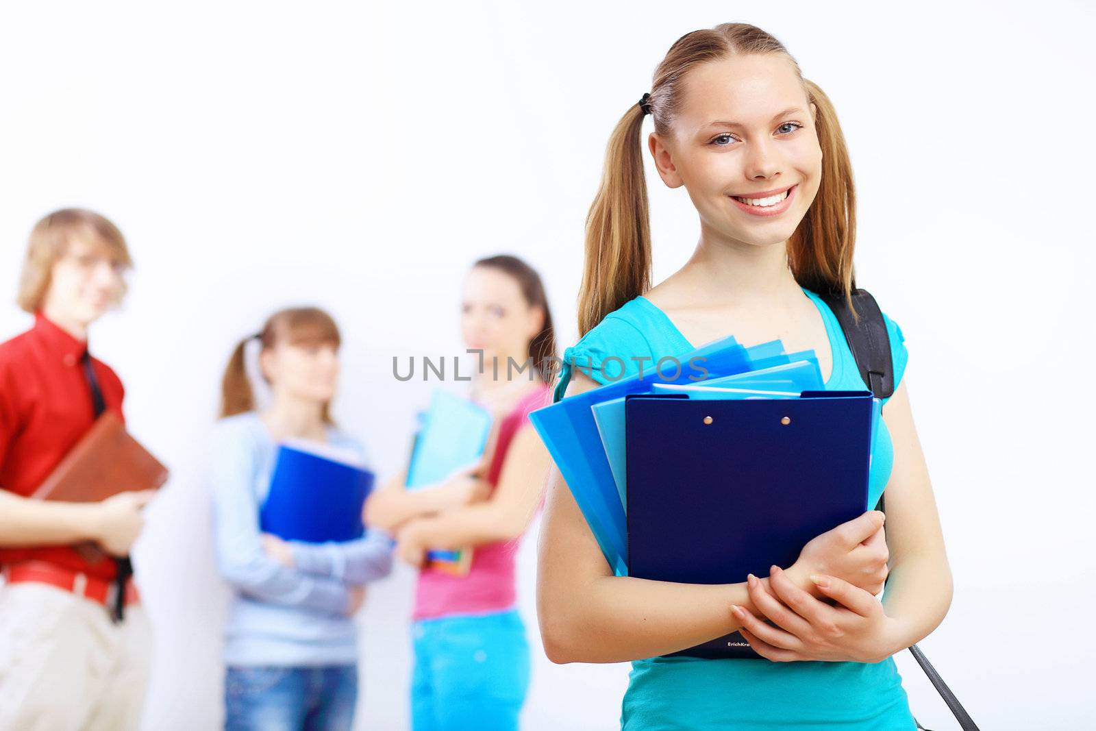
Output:
[[876,663],[901,649],[900,623],[883,614],[875,596],[836,576],[823,574],[812,580],[824,596],[836,599],[836,606],[796,586],[778,567],[772,568],[767,587],[750,574],[750,601],[776,626],[740,606],[731,613],[757,654],[773,662]]

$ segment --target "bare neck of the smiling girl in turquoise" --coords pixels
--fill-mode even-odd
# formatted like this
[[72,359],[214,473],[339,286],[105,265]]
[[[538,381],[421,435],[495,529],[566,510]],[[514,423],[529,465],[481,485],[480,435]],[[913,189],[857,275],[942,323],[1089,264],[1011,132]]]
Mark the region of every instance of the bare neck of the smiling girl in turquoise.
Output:
[[712,293],[712,304],[738,305],[799,292],[788,267],[788,242],[754,245],[701,227],[696,251],[681,270],[692,287]]

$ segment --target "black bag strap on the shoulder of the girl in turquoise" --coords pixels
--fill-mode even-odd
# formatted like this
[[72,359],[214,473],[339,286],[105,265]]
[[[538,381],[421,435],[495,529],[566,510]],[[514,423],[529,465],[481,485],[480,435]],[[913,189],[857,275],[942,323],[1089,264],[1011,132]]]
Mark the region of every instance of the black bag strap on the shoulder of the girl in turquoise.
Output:
[[[853,289],[853,307],[856,308],[859,319],[853,317],[853,310],[848,300],[843,294],[819,295],[841,323],[845,340],[848,341],[848,350],[856,358],[856,366],[860,370],[860,377],[867,384],[871,393],[879,399],[889,398],[894,393],[894,363],[890,353],[890,334],[887,332],[887,322],[883,320],[882,310],[867,289]],[[836,354],[834,354],[836,358]],[[883,510],[883,498],[879,496],[879,504],[876,510]],[[936,672],[928,658],[916,644],[910,648],[917,664],[925,671],[925,675],[932,681],[936,692],[944,698],[962,731],[978,731],[978,726],[971,720],[970,715],[951,693],[940,674]],[[916,720],[916,719],[915,719]],[[922,728],[917,723],[917,728]]]

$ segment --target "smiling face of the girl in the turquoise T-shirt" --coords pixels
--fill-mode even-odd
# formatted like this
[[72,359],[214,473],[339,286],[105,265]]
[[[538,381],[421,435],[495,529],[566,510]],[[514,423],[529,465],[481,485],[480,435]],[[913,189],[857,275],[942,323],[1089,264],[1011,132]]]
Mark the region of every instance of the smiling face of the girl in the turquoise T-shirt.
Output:
[[708,231],[750,245],[787,241],[822,174],[814,105],[791,62],[764,54],[703,64],[682,93],[672,133],[649,138],[662,180],[685,186]]

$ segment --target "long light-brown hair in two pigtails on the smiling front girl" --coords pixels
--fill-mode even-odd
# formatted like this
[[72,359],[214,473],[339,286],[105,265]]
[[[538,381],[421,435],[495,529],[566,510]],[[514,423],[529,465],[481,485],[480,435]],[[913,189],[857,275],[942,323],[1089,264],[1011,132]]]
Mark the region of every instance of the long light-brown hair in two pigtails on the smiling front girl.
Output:
[[[830,99],[803,79],[799,64],[779,41],[746,23],[723,23],[693,31],[670,47],[654,70],[651,116],[654,130],[670,132],[682,104],[682,80],[693,67],[728,56],[780,54],[803,83],[822,149],[822,180],[803,220],[788,239],[788,263],[796,281],[814,292],[850,296],[855,286],[853,248],[856,195],[853,165]],[[601,189],[586,216],[585,266],[579,290],[579,334],[651,286],[651,229],[640,134],[643,111],[632,106],[609,137]]]

